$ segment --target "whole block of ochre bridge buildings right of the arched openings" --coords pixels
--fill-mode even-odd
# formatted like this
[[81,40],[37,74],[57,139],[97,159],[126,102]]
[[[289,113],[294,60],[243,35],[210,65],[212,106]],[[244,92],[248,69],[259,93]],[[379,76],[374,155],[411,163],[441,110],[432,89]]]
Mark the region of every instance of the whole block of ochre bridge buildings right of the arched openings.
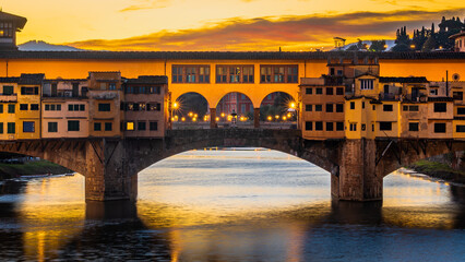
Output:
[[312,140],[465,136],[463,82],[429,82],[424,76],[385,78],[379,72],[377,59],[330,59],[329,74],[301,79],[302,136]]

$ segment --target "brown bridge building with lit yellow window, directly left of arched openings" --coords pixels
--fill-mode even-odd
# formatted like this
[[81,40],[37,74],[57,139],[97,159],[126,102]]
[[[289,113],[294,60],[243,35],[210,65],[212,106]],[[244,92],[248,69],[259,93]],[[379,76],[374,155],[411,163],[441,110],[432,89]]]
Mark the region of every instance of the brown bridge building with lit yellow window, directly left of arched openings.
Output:
[[144,75],[123,79],[124,136],[163,138],[168,112],[168,78]]

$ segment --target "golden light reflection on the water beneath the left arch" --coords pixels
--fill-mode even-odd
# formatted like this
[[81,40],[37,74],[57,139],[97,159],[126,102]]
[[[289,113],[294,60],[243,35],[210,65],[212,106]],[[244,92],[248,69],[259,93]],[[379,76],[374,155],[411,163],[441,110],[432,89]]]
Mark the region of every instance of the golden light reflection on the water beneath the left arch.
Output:
[[25,254],[46,260],[79,235],[85,219],[84,177],[51,177],[28,182],[19,205]]

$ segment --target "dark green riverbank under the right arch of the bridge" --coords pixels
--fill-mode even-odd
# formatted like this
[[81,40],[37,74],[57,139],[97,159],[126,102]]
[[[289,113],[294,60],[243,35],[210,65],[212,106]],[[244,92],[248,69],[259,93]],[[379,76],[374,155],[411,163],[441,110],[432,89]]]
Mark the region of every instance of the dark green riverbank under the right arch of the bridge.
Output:
[[431,162],[431,160],[419,160],[407,168],[421,172],[432,178],[439,178],[449,182],[461,183],[465,186],[465,171],[456,170],[446,164]]

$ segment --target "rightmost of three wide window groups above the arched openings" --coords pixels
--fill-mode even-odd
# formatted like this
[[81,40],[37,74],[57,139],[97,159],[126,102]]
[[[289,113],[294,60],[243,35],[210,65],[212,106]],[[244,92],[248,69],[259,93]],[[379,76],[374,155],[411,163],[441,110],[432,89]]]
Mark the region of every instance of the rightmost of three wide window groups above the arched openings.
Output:
[[260,66],[260,83],[298,83],[298,66]]

